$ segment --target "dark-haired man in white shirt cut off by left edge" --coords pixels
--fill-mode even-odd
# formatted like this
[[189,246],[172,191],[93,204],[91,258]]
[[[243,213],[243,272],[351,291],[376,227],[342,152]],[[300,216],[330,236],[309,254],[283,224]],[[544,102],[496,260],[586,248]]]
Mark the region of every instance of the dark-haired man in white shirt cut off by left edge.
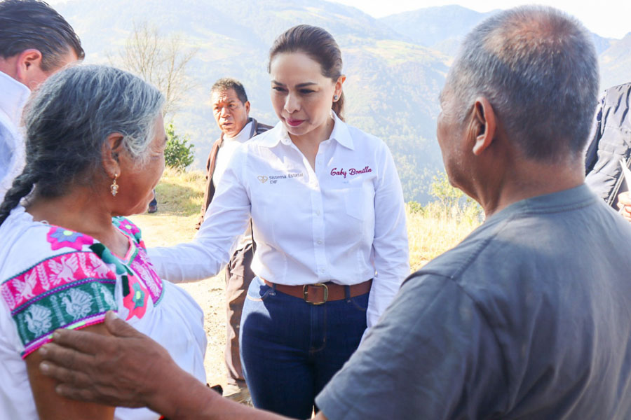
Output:
[[0,2],[0,202],[25,165],[20,118],[31,90],[83,57],[79,36],[48,4]]

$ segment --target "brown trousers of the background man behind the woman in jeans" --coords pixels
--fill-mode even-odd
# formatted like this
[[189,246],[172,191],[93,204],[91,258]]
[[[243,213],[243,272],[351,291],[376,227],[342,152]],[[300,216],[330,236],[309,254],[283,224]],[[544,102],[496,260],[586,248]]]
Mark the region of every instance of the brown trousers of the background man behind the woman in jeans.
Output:
[[247,288],[255,276],[250,268],[253,255],[252,244],[248,244],[232,255],[226,267],[226,368],[228,384],[238,386],[245,386],[239,356],[239,328]]

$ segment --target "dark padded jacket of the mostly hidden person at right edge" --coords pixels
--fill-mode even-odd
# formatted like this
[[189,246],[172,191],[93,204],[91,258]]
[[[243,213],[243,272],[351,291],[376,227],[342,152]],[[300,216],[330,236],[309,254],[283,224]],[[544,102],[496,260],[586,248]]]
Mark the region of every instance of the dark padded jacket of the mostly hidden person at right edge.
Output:
[[[607,89],[585,155],[585,183],[611,207],[626,191],[620,159],[631,165],[631,83]],[[631,182],[631,179],[629,180]]]

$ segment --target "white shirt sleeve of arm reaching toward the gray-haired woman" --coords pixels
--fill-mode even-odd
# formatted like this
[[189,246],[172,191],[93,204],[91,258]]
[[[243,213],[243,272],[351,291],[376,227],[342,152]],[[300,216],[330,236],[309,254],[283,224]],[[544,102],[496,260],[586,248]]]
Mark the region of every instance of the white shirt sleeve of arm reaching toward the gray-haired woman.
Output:
[[193,241],[149,248],[149,258],[163,279],[172,283],[206,279],[229,261],[231,247],[250,223],[250,197],[243,184],[245,158],[245,146],[241,146],[231,158]]

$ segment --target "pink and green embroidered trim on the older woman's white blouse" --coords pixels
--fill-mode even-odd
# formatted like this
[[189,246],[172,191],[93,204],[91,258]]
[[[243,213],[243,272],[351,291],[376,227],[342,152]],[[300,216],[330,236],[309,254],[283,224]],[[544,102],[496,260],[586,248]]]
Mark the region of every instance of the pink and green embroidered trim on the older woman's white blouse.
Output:
[[[48,230],[49,252],[41,253],[36,262],[15,276],[3,279],[0,293],[24,345],[22,357],[50,341],[57,328],[100,323],[109,309],[118,310],[126,320],[134,316],[140,319],[149,306],[158,304],[163,284],[147,260],[140,230],[125,218],[114,218],[113,222],[129,240],[124,257],[114,255],[88,235],[42,226],[38,233]],[[121,276],[122,305],[114,297],[117,275]]]

